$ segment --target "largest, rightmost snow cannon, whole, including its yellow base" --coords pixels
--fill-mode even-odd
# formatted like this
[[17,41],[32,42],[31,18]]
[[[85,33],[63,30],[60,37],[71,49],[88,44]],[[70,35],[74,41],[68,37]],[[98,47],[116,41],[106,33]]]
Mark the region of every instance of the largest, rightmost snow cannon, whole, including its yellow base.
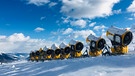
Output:
[[128,45],[133,39],[133,34],[130,30],[112,26],[107,30],[106,36],[112,43],[112,54],[128,53]]

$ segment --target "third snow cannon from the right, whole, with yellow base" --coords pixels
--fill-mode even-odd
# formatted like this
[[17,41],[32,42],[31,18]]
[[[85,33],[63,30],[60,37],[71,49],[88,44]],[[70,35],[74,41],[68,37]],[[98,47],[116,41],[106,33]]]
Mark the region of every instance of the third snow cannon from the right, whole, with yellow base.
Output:
[[71,48],[71,57],[81,57],[82,56],[82,49],[84,47],[83,43],[80,41],[71,40],[69,42]]

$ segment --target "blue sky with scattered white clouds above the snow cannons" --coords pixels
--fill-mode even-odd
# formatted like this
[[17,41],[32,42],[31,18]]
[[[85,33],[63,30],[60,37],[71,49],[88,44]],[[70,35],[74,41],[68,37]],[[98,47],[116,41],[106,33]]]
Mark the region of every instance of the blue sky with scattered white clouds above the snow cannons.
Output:
[[1,0],[0,52],[30,52],[135,25],[135,0]]

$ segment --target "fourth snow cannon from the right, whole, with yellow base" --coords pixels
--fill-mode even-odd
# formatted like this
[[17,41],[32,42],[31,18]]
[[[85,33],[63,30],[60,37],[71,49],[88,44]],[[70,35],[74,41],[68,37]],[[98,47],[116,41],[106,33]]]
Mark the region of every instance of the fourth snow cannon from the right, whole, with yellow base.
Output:
[[62,51],[62,58],[69,58],[70,57],[70,47],[65,45],[63,42],[59,45],[59,48]]

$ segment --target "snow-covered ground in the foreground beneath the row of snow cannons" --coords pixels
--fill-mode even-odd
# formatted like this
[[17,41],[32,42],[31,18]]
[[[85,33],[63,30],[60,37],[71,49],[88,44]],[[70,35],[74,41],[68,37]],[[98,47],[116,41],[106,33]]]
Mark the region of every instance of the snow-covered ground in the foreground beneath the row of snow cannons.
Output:
[[0,76],[135,76],[135,55],[0,65]]

